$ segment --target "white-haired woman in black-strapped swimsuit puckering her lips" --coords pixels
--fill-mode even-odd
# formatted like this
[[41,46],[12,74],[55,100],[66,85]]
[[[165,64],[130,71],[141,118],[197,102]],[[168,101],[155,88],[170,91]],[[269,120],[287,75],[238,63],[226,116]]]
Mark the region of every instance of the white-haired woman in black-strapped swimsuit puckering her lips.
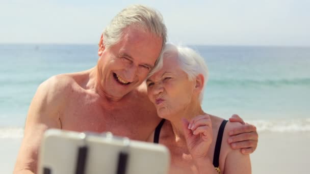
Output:
[[163,118],[149,141],[169,148],[170,173],[251,173],[249,155],[222,141],[240,123],[227,122],[201,108],[208,80],[202,57],[172,44],[166,45],[162,55],[163,65],[146,80],[148,97]]

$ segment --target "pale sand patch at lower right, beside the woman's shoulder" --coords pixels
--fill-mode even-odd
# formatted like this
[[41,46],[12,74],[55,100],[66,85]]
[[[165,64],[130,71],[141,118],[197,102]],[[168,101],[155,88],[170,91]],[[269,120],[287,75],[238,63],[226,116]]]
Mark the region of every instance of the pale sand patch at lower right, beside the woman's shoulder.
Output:
[[251,155],[252,173],[310,173],[310,132],[259,135],[259,146]]

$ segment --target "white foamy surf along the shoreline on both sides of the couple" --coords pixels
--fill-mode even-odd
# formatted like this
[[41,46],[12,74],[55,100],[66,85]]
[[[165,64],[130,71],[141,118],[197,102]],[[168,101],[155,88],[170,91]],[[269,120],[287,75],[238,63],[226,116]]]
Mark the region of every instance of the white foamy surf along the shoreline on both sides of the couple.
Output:
[[[247,123],[256,126],[258,132],[310,132],[309,119],[292,120],[247,120]],[[23,137],[21,127],[0,128],[0,138],[19,139]]]

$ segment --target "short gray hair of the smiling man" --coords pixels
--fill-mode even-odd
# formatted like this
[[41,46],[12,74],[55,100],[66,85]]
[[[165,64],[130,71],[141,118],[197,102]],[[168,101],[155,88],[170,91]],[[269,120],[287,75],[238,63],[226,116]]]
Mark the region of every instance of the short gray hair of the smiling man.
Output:
[[149,7],[132,5],[119,12],[105,28],[103,32],[106,48],[115,45],[120,41],[123,30],[130,25],[136,25],[154,36],[163,38],[162,49],[167,40],[167,28],[163,22],[162,15]]

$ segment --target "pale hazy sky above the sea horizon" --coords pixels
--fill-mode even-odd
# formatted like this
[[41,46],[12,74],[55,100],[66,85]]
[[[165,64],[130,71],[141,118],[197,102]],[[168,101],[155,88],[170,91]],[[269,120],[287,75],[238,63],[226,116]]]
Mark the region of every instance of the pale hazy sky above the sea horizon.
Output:
[[310,46],[307,0],[1,0],[0,43],[97,44],[131,4],[160,11],[176,44]]

